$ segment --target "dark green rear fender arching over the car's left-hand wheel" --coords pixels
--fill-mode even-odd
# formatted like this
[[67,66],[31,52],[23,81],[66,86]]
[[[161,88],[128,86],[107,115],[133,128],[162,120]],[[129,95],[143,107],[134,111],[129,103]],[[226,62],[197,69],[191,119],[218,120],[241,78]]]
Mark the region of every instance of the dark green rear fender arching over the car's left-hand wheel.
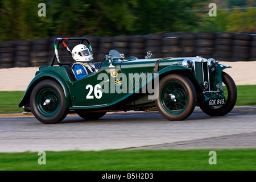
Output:
[[68,88],[67,82],[60,75],[57,75],[54,72],[46,71],[46,72],[39,73],[32,79],[32,81],[28,85],[28,88],[27,88],[22,100],[19,103],[19,107],[29,105],[30,104],[30,95],[31,95],[31,92],[32,92],[33,88],[35,87],[35,85],[38,84],[38,82],[48,79],[48,78],[52,78],[53,80],[56,80],[57,82],[59,82],[59,84],[63,88],[64,94],[65,94],[65,101],[66,101],[65,107],[68,108],[69,106],[71,106],[72,105],[71,94],[70,94],[70,90]]

